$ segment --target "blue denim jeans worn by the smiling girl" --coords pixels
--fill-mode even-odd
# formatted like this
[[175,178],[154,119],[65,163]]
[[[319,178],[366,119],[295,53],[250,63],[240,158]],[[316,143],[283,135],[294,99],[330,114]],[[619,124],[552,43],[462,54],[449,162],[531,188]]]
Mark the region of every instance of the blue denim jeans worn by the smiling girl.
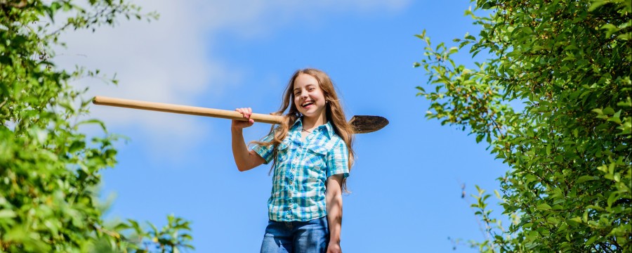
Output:
[[272,221],[265,228],[261,253],[326,252],[327,216],[311,221]]

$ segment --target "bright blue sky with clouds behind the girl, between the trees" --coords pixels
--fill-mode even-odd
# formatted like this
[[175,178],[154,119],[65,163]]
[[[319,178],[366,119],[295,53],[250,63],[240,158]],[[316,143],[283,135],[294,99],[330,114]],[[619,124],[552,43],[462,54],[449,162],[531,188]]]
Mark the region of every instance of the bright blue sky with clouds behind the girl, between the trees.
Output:
[[[58,54],[117,73],[119,85],[80,79],[88,96],[117,96],[233,110],[274,112],[294,70],[317,67],[338,88],[348,117],[380,115],[390,124],[357,135],[357,161],[343,198],[344,252],[475,252],[448,238],[482,240],[471,197],[492,192],[506,164],[456,126],[425,119],[421,68],[427,30],[435,45],[478,27],[463,16],[469,1],[136,1],[152,22],[120,20],[95,34],[67,34]],[[457,58],[472,65],[465,53]],[[258,252],[268,222],[268,166],[239,172],[230,121],[93,106],[121,141],[119,164],[103,174],[107,217],[164,225],[167,214],[192,221],[196,252]],[[244,137],[264,136],[255,124]],[[89,130],[88,130],[89,131]],[[494,200],[494,198],[490,198]],[[499,207],[495,209],[499,214]]]

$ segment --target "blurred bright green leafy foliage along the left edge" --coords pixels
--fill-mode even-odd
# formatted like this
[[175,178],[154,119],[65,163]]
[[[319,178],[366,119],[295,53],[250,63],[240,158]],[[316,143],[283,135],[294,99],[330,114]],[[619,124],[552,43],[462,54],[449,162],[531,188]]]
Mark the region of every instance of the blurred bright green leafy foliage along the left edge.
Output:
[[[189,222],[174,216],[149,231],[136,221],[103,221],[97,186],[100,171],[116,163],[116,138],[103,122],[80,120],[90,101],[68,84],[98,70],[67,72],[51,60],[62,32],[121,16],[156,17],[123,0],[0,0],[0,252],[192,248]],[[83,124],[102,126],[104,136],[88,139]]]

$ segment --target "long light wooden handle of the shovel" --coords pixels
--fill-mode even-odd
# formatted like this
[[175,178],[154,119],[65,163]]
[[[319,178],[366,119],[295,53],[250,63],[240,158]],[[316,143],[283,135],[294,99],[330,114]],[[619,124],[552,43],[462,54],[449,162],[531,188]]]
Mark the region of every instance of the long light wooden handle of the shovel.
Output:
[[[213,108],[200,108],[188,105],[174,105],[168,103],[154,103],[140,100],[130,100],[122,98],[108,98],[104,96],[96,96],[93,98],[92,103],[96,105],[110,105],[121,108],[133,108],[141,110],[153,110],[158,112],[173,112],[185,115],[199,115],[206,117],[218,117],[223,119],[237,119],[246,121],[241,113],[232,110],[220,110]],[[281,124],[283,122],[283,116],[265,115],[260,113],[253,113],[250,116],[255,122],[263,122],[268,124]]]

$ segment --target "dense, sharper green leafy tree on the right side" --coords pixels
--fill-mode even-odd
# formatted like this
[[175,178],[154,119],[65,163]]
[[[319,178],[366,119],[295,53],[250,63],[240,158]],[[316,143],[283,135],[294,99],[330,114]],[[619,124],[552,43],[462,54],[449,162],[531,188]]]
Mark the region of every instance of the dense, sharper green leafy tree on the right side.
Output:
[[[478,0],[466,11],[478,36],[447,48],[417,35],[426,117],[467,129],[510,167],[499,197],[511,224],[475,196],[481,252],[632,251],[631,12],[627,0]],[[454,63],[464,48],[486,60]]]

